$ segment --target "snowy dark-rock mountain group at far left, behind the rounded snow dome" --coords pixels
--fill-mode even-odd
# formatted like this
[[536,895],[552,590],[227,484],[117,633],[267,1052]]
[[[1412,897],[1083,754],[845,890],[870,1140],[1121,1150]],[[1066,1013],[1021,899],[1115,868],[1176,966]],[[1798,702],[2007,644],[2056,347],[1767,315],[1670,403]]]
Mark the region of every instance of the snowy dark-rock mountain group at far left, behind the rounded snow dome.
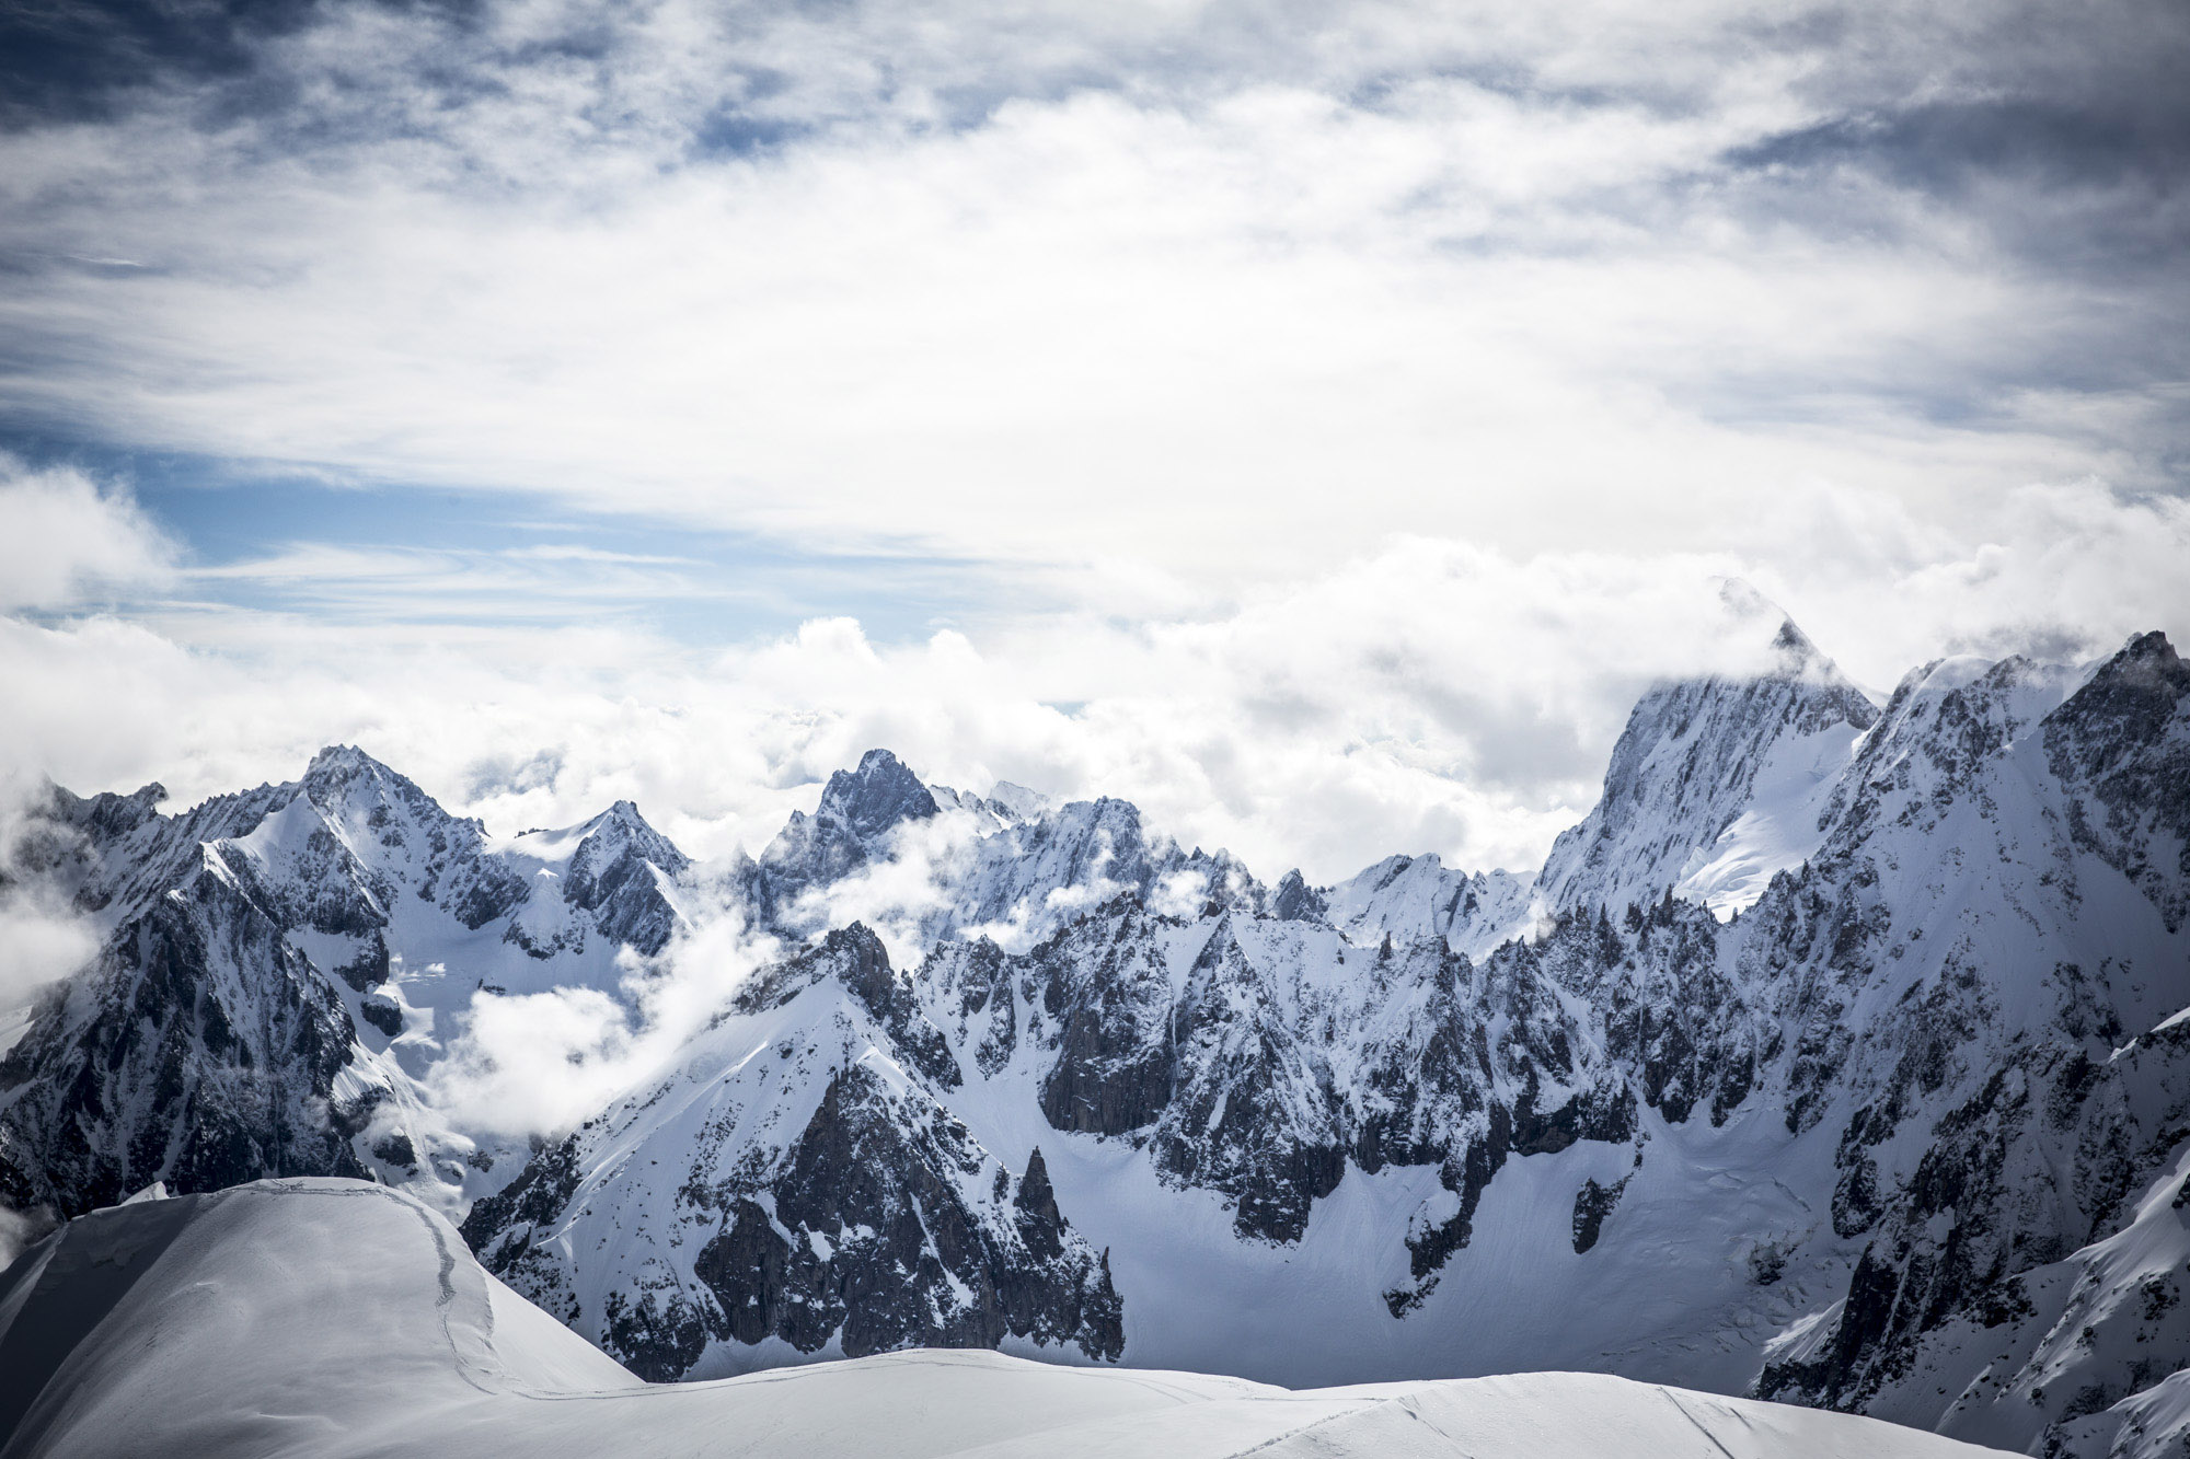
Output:
[[[184,815],[55,789],[28,865],[103,933],[0,1056],[0,1198],[374,1174],[462,1203],[491,1161],[420,1076],[473,995],[615,988],[690,863],[629,802],[508,841],[335,747]],[[438,1163],[436,1163],[436,1157]]]

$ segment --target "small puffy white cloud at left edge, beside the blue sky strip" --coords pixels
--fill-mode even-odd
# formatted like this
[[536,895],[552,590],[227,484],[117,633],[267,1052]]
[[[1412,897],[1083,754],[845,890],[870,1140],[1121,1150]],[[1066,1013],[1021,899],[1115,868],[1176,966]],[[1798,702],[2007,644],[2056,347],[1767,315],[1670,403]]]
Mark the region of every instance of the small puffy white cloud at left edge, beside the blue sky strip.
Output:
[[175,545],[125,491],[0,453],[0,609],[68,609],[160,585]]

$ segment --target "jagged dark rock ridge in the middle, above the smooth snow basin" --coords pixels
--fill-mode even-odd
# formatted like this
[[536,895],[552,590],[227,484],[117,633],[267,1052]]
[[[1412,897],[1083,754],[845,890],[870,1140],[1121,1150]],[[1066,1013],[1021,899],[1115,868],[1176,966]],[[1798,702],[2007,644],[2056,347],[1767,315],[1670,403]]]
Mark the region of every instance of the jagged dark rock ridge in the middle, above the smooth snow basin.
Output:
[[[1018,1047],[1049,1124],[1150,1146],[1161,1174],[1229,1196],[1246,1238],[1299,1240],[1349,1159],[1437,1165],[1461,1209],[1413,1242],[1408,1306],[1465,1247],[1509,1154],[1634,1135],[1634,1093],[1599,1065],[1535,949],[1474,968],[1441,942],[1277,931],[1292,924],[1211,914],[1174,977],[1165,946],[1183,924],[1119,898],[1021,957],[992,953],[979,981],[964,957],[931,960],[924,977],[961,1010],[1016,984],[1034,1019]],[[1489,1027],[1505,1030],[1496,1047]],[[1336,1049],[1351,1049],[1349,1078]]]

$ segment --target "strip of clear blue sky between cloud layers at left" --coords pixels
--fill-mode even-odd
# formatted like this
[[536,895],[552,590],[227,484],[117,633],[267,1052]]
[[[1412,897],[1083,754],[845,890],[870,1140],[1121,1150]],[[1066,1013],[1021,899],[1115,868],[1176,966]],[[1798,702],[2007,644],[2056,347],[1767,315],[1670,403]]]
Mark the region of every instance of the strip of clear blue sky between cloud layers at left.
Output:
[[328,473],[0,436],[33,469],[127,484],[177,545],[184,576],[112,598],[118,611],[293,613],[326,620],[556,627],[613,618],[705,646],[852,616],[924,637],[972,609],[979,563],[823,552],[523,491],[335,482]]

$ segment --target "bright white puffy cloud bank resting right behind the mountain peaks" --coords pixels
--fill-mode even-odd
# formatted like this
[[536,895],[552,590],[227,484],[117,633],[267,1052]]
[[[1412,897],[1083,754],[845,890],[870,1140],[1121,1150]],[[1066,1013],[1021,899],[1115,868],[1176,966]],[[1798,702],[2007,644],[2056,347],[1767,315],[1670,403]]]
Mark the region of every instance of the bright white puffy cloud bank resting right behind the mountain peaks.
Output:
[[1395,850],[1529,868],[1594,800],[1651,679],[1754,651],[1728,637],[1717,574],[1879,690],[1945,651],[2102,653],[2190,627],[2190,506],[2026,489],[1989,526],[1958,539],[1888,497],[1787,495],[1761,517],[1783,541],[1763,561],[1391,539],[1218,611],[902,644],[848,618],[701,651],[620,627],[18,616],[0,618],[0,762],[79,791],[158,778],[188,804],[350,740],[497,830],[633,797],[723,854],[883,745],[975,791],[1130,797],[1270,878]]

